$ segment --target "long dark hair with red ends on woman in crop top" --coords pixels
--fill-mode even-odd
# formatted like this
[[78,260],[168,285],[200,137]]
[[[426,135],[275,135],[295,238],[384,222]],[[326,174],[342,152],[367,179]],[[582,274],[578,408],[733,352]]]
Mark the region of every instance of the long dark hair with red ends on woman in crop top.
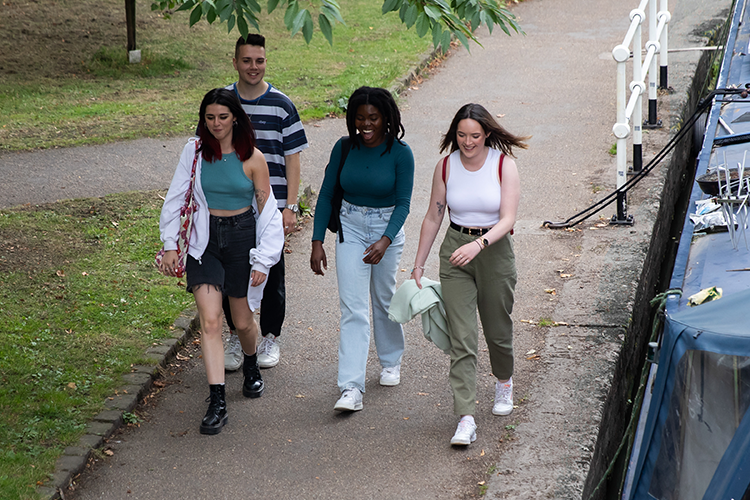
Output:
[[242,109],[240,100],[232,90],[213,89],[203,97],[198,121],[198,137],[201,140],[200,151],[206,161],[221,159],[221,146],[219,141],[206,127],[206,108],[210,104],[226,106],[234,115],[235,125],[232,127],[232,144],[241,161],[245,161],[253,155],[255,150],[255,130],[250,118]]

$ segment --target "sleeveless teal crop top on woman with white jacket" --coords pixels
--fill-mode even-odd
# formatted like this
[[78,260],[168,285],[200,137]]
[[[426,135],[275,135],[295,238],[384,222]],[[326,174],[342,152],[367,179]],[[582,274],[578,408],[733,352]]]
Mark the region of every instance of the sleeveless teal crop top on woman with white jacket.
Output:
[[247,178],[242,162],[235,153],[221,156],[221,160],[203,160],[201,186],[208,208],[239,210],[253,204],[255,185]]

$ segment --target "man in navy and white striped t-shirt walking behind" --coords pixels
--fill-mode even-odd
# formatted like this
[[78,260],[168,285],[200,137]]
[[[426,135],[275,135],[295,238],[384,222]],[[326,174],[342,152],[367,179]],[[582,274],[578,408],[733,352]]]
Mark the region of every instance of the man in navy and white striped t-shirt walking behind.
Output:
[[[266,40],[262,35],[240,37],[235,46],[234,68],[237,82],[227,88],[240,98],[242,108],[255,128],[257,147],[263,152],[271,176],[271,188],[284,220],[284,234],[297,223],[297,196],[300,184],[299,154],[308,147],[305,129],[292,101],[265,81]],[[228,301],[224,313],[232,335],[224,348],[224,366],[237,370],[243,354],[234,333]],[[260,306],[261,340],[257,347],[258,365],[271,368],[279,362],[278,336],[286,315],[284,284],[284,252],[281,260],[268,273],[268,281]]]

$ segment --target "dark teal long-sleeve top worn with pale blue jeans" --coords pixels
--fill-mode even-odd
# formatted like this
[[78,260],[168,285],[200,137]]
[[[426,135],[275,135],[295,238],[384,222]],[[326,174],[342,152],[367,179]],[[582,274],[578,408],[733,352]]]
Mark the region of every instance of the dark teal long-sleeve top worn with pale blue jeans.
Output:
[[[387,140],[374,148],[360,145],[349,150],[341,170],[344,199],[362,207],[395,207],[383,236],[393,241],[409,215],[414,187],[414,155],[407,144],[394,139],[391,151],[385,153]],[[385,154],[383,154],[385,153]],[[341,139],[331,151],[323,185],[315,206],[313,241],[324,241],[336,174],[341,162]],[[346,238],[346,235],[344,235]]]

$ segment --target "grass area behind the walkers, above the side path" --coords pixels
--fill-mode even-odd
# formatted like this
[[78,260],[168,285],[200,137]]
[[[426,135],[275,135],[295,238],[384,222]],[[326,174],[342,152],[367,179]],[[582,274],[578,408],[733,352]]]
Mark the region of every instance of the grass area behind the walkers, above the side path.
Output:
[[[3,3],[0,40],[0,150],[97,144],[194,130],[200,99],[236,80],[237,32],[186,13],[165,19],[137,6],[140,64],[128,64],[122,0]],[[396,13],[371,0],[341,0],[346,26],[334,46],[289,37],[283,12],[262,19],[266,80],[287,93],[303,120],[341,111],[361,85],[389,86],[430,48]],[[319,35],[319,34],[318,34]]]

